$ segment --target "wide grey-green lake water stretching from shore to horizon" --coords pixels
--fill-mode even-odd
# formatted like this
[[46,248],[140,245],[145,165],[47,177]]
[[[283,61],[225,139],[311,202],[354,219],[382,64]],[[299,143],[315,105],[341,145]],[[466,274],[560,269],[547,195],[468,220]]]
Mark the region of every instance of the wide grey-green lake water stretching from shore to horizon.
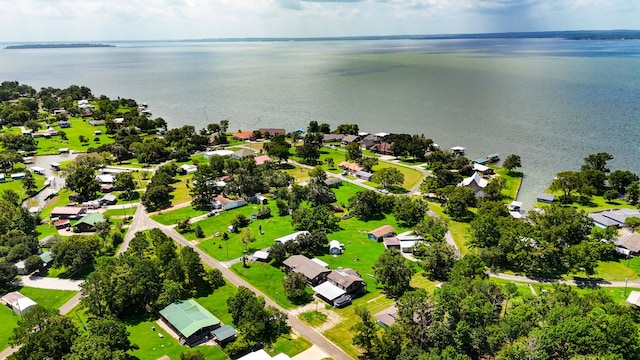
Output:
[[0,79],[134,98],[171,126],[310,120],[424,133],[474,159],[519,154],[532,204],[590,153],[640,172],[640,41],[124,42],[0,50]]

